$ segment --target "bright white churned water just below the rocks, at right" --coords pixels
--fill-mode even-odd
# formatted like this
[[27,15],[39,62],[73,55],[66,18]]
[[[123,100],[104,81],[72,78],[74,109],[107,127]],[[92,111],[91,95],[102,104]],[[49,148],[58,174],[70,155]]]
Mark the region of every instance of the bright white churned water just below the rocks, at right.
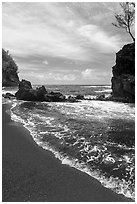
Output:
[[78,103],[54,104],[61,113],[74,117],[90,117],[97,120],[127,119],[135,120],[135,108],[129,104],[113,101],[81,101]]

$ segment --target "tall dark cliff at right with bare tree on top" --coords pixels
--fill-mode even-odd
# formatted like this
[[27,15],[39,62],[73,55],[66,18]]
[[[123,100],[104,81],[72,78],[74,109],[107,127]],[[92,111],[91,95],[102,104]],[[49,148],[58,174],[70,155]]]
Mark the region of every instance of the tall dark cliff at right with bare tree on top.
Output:
[[112,96],[135,102],[135,43],[125,45],[116,53],[116,65],[112,67],[112,72]]

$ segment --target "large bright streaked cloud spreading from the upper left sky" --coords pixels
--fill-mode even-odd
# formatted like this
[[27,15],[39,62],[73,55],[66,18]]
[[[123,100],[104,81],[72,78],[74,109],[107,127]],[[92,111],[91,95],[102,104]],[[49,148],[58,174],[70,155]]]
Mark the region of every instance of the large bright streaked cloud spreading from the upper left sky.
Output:
[[16,55],[93,61],[98,46],[102,52],[103,46],[105,51],[113,51],[118,43],[118,37],[86,24],[76,9],[72,15],[65,4],[7,3],[3,7],[3,46]]

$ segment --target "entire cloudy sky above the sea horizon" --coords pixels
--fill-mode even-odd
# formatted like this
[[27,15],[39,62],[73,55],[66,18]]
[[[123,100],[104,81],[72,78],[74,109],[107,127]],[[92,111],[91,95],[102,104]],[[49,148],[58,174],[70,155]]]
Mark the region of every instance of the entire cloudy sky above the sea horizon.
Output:
[[110,84],[131,38],[112,25],[119,3],[3,3],[2,43],[33,84]]

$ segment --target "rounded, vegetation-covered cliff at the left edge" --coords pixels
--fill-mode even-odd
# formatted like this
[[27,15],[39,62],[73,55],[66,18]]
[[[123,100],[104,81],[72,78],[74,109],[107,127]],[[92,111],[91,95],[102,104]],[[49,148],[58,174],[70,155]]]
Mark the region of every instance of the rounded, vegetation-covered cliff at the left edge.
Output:
[[2,86],[17,86],[19,77],[18,67],[12,57],[2,49]]

